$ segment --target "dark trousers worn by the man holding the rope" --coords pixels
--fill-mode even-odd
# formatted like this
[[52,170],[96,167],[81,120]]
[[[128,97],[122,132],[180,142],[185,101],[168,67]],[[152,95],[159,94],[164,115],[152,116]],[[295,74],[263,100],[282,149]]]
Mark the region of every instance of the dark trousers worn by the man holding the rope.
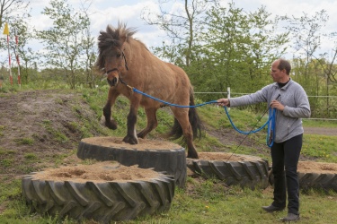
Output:
[[285,208],[288,192],[288,213],[299,214],[299,184],[297,163],[302,149],[303,134],[271,146],[274,201],[272,205]]

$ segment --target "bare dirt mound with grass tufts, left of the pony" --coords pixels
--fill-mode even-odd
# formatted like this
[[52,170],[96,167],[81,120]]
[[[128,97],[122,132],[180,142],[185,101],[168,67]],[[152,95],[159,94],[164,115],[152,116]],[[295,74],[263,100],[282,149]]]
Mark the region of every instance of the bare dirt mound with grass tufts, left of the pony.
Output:
[[0,108],[1,174],[14,176],[61,162],[84,137],[82,120],[97,120],[80,94],[64,90],[1,94]]

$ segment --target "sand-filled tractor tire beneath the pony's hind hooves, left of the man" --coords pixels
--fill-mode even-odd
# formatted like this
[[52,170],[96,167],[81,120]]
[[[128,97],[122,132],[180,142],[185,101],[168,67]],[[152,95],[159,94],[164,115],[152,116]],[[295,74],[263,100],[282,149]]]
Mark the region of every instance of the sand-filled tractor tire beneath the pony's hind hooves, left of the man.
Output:
[[[203,159],[208,158],[207,154],[214,154],[211,156],[214,159]],[[200,159],[187,159],[187,167],[202,177],[217,178],[228,186],[240,185],[251,189],[265,189],[269,185],[267,160],[226,152],[200,152],[199,157]],[[229,157],[231,159],[226,160]]]

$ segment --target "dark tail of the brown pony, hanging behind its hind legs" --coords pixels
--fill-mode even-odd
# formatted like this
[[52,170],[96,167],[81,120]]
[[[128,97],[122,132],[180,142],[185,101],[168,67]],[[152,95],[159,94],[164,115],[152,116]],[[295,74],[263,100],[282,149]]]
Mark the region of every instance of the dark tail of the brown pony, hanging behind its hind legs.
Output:
[[[190,88],[190,106],[195,106],[193,94],[194,94],[193,89]],[[200,117],[198,116],[196,108],[189,109],[189,121],[193,132],[193,139],[201,138],[202,131],[204,128],[201,123]],[[180,125],[180,123],[176,118],[174,118],[174,124],[169,136],[172,139],[179,139],[180,137],[182,137],[182,125]]]

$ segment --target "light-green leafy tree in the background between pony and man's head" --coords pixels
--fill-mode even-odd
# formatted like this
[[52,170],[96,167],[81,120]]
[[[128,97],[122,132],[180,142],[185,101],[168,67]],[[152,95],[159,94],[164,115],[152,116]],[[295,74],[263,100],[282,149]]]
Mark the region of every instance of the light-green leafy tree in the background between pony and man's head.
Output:
[[[228,9],[217,4],[208,10],[205,22],[208,29],[203,30],[200,36],[204,44],[197,54],[199,59],[193,64],[191,79],[202,91],[223,91],[226,87],[235,87],[234,83],[242,78],[239,58],[244,55],[247,17],[234,4],[229,4]],[[208,73],[207,77],[203,75],[205,73]]]

